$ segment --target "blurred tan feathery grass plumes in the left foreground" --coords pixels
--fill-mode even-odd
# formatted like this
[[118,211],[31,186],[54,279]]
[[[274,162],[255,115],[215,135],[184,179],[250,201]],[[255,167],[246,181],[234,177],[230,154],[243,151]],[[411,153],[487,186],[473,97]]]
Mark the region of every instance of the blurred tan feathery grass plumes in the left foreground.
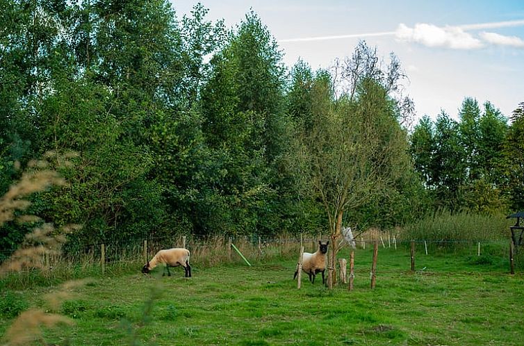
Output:
[[[55,152],[48,152],[43,160],[34,160],[28,163],[26,170],[22,172],[22,178],[8,192],[0,197],[0,226],[5,222],[15,221],[19,223],[30,223],[34,225],[33,231],[26,234],[24,243],[0,265],[0,277],[10,275],[17,279],[18,272],[26,271],[40,272],[48,271],[49,256],[60,256],[61,247],[66,240],[65,233],[78,229],[78,226],[64,226],[55,229],[51,223],[44,223],[40,217],[25,215],[24,211],[31,204],[28,196],[34,192],[43,191],[50,186],[62,186],[65,181],[52,169],[51,161],[55,160],[57,165],[69,165],[69,158],[76,154],[69,153],[60,156]],[[16,164],[15,167],[19,167]],[[22,215],[19,215],[22,214]],[[42,261],[42,258],[46,258]],[[15,274],[13,274],[15,272]],[[5,281],[5,280],[2,280]],[[57,324],[72,324],[72,320],[66,316],[56,313],[65,299],[72,297],[72,290],[83,285],[83,281],[63,283],[58,290],[43,297],[43,306],[28,308],[26,311],[17,310],[19,314],[3,336],[8,345],[29,345],[31,343],[46,344],[42,334],[42,327],[55,327]],[[10,293],[6,292],[3,299],[10,299]],[[16,300],[15,300],[16,302]],[[22,304],[23,305],[23,304]]]

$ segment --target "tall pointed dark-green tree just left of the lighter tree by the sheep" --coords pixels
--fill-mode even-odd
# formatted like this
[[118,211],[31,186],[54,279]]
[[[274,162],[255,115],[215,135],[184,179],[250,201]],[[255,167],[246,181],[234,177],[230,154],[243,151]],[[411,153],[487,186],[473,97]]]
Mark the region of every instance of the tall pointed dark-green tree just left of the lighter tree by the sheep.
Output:
[[[238,229],[277,228],[278,158],[286,147],[284,65],[268,28],[248,13],[211,59],[202,90],[202,124],[224,176],[216,190]],[[234,207],[234,208],[231,208]]]

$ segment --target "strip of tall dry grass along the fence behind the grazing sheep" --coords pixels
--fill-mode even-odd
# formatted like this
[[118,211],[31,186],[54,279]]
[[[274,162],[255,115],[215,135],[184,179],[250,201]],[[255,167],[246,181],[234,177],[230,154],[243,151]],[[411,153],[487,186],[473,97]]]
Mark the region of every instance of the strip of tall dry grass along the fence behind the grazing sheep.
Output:
[[[304,237],[306,251],[316,251],[317,237]],[[190,262],[194,268],[216,265],[245,264],[229,244],[237,247],[249,263],[263,263],[298,254],[300,238],[283,234],[277,238],[225,237],[206,238],[186,237],[186,248],[191,252]],[[147,240],[146,257],[144,241],[126,244],[105,244],[105,275],[115,276],[140,272],[147,259],[151,259],[160,249],[183,246],[183,237]],[[35,258],[33,267],[6,273],[0,280],[0,288],[21,289],[28,286],[51,286],[62,281],[85,277],[101,277],[101,244],[95,244],[82,253],[41,255]]]

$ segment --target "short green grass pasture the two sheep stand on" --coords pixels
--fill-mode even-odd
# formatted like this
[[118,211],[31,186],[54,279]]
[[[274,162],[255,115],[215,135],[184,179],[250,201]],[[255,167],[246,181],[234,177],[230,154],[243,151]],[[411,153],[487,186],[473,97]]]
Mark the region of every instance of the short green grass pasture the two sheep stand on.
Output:
[[[44,331],[48,345],[524,345],[524,275],[505,258],[358,249],[355,287],[293,281],[296,261],[193,266],[193,278],[136,272],[95,277],[60,313],[72,326]],[[178,270],[176,270],[178,269]],[[108,273],[111,273],[108,270]],[[3,287],[6,287],[5,285]],[[4,288],[3,288],[4,289]],[[6,288],[13,303],[44,306],[54,287]],[[5,295],[6,293],[4,293]],[[4,309],[5,310],[5,309]],[[0,335],[13,316],[0,315]],[[43,345],[43,344],[39,344]]]

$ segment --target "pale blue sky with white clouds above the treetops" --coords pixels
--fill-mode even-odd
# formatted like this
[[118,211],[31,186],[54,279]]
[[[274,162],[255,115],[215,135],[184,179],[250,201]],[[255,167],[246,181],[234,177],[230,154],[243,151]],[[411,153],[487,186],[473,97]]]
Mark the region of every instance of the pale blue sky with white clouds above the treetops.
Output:
[[360,40],[388,62],[393,52],[409,81],[416,117],[459,118],[465,97],[490,101],[509,117],[524,101],[524,0],[171,0],[177,17],[197,2],[208,19],[236,26],[250,9],[292,67],[313,69],[352,55]]

